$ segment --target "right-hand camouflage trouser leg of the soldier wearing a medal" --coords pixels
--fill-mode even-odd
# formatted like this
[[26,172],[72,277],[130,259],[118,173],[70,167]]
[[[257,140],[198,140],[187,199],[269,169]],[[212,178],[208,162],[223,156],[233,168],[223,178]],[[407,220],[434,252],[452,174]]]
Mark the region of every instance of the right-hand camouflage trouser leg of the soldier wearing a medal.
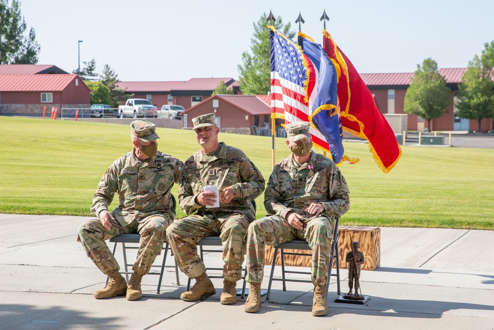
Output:
[[305,240],[312,249],[312,283],[328,283],[331,243],[333,240],[332,222],[327,217],[317,217],[307,224]]

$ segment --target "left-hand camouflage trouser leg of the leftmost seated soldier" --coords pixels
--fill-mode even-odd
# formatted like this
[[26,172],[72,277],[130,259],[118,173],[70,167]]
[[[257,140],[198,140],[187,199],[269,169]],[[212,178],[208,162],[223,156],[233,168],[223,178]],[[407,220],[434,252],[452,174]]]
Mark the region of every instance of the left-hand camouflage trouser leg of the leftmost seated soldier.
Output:
[[127,233],[127,230],[117,220],[111,220],[110,223],[112,228],[106,229],[99,219],[91,219],[84,222],[78,229],[78,240],[81,241],[84,251],[104,274],[120,270],[105,240]]

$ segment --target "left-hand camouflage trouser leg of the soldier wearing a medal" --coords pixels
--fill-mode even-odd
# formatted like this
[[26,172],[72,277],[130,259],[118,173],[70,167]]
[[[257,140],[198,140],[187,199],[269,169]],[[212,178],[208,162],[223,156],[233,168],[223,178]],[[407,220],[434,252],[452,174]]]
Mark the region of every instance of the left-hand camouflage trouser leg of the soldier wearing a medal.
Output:
[[295,238],[295,229],[278,216],[268,216],[250,224],[247,231],[247,279],[261,283],[264,277],[265,247]]

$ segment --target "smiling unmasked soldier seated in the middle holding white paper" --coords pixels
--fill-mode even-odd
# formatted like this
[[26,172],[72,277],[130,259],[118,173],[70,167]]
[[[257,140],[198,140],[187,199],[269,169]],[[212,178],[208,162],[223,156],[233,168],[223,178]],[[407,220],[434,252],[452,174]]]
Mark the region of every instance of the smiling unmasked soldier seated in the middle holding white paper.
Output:
[[[223,242],[222,304],[237,302],[235,285],[241,279],[245,255],[245,235],[255,220],[251,200],[264,190],[264,178],[242,150],[218,142],[219,128],[214,113],[192,119],[196,140],[201,150],[184,163],[178,198],[188,215],[167,229],[168,242],[178,267],[189,278],[196,279],[190,291],[182,293],[185,301],[200,300],[216,293],[206,275],[196,243],[206,236],[219,236]],[[211,207],[218,196],[205,191],[217,186],[219,207]]]

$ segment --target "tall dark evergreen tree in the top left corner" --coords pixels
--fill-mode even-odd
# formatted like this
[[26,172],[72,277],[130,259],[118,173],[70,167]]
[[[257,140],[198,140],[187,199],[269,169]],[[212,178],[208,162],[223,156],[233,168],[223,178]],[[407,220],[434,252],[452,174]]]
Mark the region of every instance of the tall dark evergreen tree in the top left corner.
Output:
[[26,35],[26,22],[18,0],[0,0],[0,64],[36,64],[40,45],[33,28]]

